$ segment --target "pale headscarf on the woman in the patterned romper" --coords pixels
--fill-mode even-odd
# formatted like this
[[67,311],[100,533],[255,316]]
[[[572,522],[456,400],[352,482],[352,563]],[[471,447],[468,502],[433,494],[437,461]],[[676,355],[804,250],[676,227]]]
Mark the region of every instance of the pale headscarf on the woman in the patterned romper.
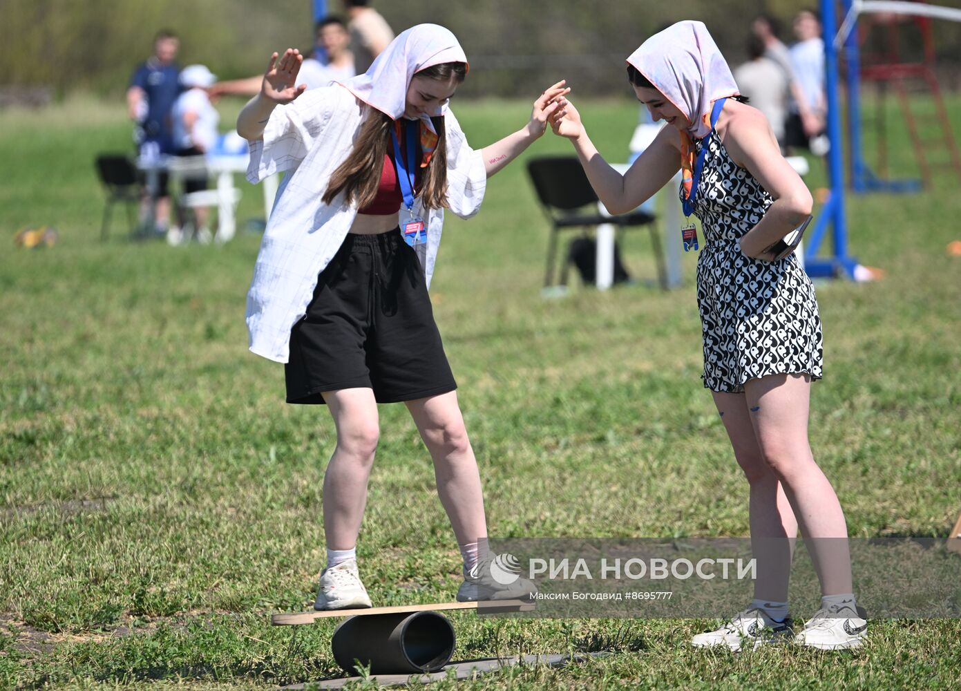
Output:
[[628,64],[684,113],[700,139],[711,131],[714,101],[741,93],[717,43],[701,21],[679,21],[630,54]]

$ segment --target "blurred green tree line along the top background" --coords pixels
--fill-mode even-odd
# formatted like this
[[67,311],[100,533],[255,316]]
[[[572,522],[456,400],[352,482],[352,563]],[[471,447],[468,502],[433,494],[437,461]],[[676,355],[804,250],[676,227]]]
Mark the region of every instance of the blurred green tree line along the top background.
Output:
[[[395,31],[420,22],[449,27],[471,60],[462,96],[529,96],[567,78],[582,94],[627,93],[625,58],[654,32],[679,19],[701,19],[729,62],[741,62],[750,22],[768,12],[790,42],[793,0],[373,0]],[[312,45],[310,0],[0,0],[0,82],[53,86],[60,94],[116,97],[154,34],[181,37],[178,62],[207,64],[221,79],[263,71],[273,50]],[[328,9],[343,13],[340,0]],[[910,32],[902,53],[917,51]],[[961,24],[936,22],[939,60],[961,62]],[[913,44],[912,44],[913,43]],[[944,70],[957,74],[957,70]],[[957,86],[949,84],[946,86]]]

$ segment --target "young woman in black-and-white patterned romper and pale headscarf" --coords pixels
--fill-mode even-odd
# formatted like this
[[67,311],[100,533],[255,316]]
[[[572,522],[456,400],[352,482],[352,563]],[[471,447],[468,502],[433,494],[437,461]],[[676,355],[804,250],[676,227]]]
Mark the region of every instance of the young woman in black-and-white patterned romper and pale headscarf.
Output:
[[[811,195],[780,156],[764,115],[739,95],[702,22],[679,22],[648,39],[628,58],[628,80],[653,118],[671,127],[624,176],[598,153],[570,102],[552,125],[574,143],[612,213],[637,207],[679,167],[681,199],[693,196],[701,219],[703,380],[750,484],[757,580],[751,605],[692,643],[739,650],[746,639],[756,647],[793,637],[823,650],[857,647],[867,623],[852,594],[847,525],[807,439],[811,381],[822,376],[818,304],[798,259],[773,260],[767,251],[811,212]],[[711,111],[722,99],[712,128]],[[703,147],[698,179],[692,173]],[[824,597],[795,636],[787,592],[799,526]]]

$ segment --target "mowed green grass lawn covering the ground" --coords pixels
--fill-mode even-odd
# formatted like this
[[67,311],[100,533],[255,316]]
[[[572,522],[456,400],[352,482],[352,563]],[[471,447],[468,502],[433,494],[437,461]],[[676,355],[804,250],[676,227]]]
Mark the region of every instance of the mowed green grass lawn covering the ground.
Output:
[[[608,159],[626,159],[636,104],[579,106]],[[529,111],[455,108],[477,147]],[[236,109],[221,107],[225,123]],[[130,242],[119,210],[100,242],[93,158],[129,146],[120,103],[0,113],[0,685],[335,676],[333,622],[269,624],[312,602],[334,436],[326,409],[284,405],[283,367],[246,348],[259,235],[242,224],[262,214],[260,190],[243,184],[224,247]],[[569,151],[549,134],[524,159]],[[548,226],[524,159],[490,181],[476,218],[450,218],[431,290],[491,534],[746,535],[747,483],[699,376],[696,258],[684,257],[682,289],[661,292],[634,231],[638,284],[573,281],[568,297],[542,299]],[[904,139],[892,161],[916,170]],[[816,163],[810,184],[823,177]],[[817,286],[825,379],[811,439],[852,535],[945,536],[961,510],[961,259],[946,253],[961,239],[957,185],[946,173],[922,194],[849,197],[851,252],[886,278]],[[28,225],[60,241],[15,247]],[[363,578],[379,605],[452,600],[460,561],[430,457],[405,407],[380,415]],[[688,645],[709,620],[452,619],[455,659],[609,654],[436,688],[961,685],[954,620],[875,621],[854,653],[729,654]]]

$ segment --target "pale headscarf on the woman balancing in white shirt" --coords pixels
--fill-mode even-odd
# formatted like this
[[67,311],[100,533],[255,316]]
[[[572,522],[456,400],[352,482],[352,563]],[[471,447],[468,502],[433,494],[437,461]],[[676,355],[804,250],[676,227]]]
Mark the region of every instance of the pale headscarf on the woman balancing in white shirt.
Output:
[[[390,41],[366,73],[341,84],[364,103],[397,120],[407,110],[407,88],[414,73],[444,62],[467,62],[454,34],[437,24],[417,24]],[[445,104],[422,116],[431,132],[431,115],[443,115],[446,109]]]

